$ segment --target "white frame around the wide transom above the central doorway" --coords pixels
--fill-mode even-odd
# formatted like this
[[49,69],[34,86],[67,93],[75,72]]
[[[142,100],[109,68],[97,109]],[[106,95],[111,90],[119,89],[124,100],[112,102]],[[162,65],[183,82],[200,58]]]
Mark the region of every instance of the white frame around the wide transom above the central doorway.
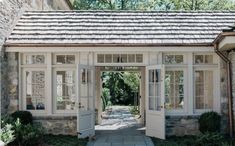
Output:
[[[97,61],[97,56],[98,54],[142,54],[143,55],[143,62],[142,63],[99,63]],[[94,65],[95,66],[147,66],[148,65],[148,53],[143,53],[143,52],[115,52],[115,51],[110,51],[110,52],[95,52],[94,53]]]

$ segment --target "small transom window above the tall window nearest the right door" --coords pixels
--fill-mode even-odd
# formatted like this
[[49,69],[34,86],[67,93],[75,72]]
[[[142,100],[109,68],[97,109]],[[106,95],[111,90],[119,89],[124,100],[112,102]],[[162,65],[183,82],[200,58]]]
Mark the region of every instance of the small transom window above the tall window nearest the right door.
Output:
[[164,54],[163,62],[165,64],[182,64],[184,62],[184,55]]

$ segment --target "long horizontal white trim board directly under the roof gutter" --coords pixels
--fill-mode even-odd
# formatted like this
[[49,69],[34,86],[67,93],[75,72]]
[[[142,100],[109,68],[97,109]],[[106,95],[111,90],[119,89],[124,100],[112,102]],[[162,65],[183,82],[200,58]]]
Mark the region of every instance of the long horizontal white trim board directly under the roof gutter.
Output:
[[6,52],[214,52],[205,47],[6,47]]

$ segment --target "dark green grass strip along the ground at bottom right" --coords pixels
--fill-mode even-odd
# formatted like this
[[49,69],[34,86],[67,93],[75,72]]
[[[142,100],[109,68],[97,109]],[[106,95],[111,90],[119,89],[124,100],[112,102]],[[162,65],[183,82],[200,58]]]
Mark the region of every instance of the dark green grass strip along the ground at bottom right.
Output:
[[215,144],[208,141],[197,143],[196,136],[183,136],[183,137],[168,137],[166,140],[161,140],[158,138],[152,138],[152,141],[155,146],[234,146],[234,140],[230,138],[225,138],[222,140],[222,143]]

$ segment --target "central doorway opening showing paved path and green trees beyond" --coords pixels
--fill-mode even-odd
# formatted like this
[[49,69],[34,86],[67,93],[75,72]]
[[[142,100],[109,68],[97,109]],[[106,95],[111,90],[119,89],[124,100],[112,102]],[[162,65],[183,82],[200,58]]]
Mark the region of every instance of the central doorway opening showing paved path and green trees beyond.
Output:
[[[144,67],[97,67],[100,98],[96,130],[144,125]],[[143,86],[143,87],[142,87]]]

